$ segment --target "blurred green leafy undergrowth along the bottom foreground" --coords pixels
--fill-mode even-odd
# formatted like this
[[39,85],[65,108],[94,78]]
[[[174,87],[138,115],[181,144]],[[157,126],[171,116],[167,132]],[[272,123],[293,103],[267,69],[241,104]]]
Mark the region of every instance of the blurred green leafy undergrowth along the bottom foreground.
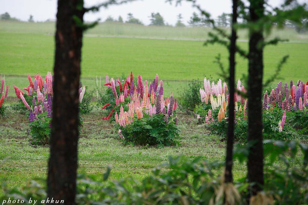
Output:
[[[240,163],[247,159],[247,147],[235,150],[233,158]],[[295,160],[297,153],[303,160]],[[245,178],[233,184],[223,183],[223,163],[209,163],[202,157],[188,159],[184,156],[168,157],[168,163],[153,169],[141,183],[131,177],[106,183],[111,168],[103,174],[103,179],[78,174],[76,204],[306,204],[308,198],[308,147],[294,141],[264,142],[264,191],[256,197],[248,198]],[[283,164],[283,166],[282,166]],[[294,166],[295,165],[295,166]],[[45,180],[31,181],[22,189],[2,188],[0,200],[47,199]],[[26,202],[27,200],[25,200]],[[254,203],[252,203],[252,201]],[[267,204],[266,203],[266,204]],[[9,204],[5,201],[3,204]]]

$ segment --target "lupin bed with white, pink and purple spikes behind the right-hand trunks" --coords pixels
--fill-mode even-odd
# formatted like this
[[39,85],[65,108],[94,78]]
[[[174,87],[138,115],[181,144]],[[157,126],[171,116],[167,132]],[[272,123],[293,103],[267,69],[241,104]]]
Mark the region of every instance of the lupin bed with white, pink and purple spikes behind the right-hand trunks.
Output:
[[[268,139],[294,139],[296,136],[307,136],[306,126],[308,115],[307,91],[308,82],[305,85],[298,81],[297,85],[290,82],[290,89],[285,83],[282,88],[280,81],[271,93],[266,91],[263,100],[263,136]],[[221,80],[212,86],[209,80],[204,81],[205,89],[200,89],[201,105],[195,111],[200,115],[205,115],[204,122],[209,129],[218,135],[225,136],[228,128],[228,102],[229,93],[227,84],[221,84]],[[304,88],[305,87],[305,88]],[[245,87],[241,86],[241,81],[237,82],[237,90],[245,93]],[[289,92],[290,90],[290,92]],[[284,96],[284,100],[283,100]],[[247,124],[247,100],[240,94],[235,94],[235,127],[234,134],[237,140],[246,140]],[[300,117],[299,117],[300,116]]]

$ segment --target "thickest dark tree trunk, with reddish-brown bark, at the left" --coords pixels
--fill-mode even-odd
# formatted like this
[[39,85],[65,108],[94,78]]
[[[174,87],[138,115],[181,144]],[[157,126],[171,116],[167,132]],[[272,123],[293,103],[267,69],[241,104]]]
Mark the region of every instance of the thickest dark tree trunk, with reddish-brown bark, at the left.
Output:
[[[82,4],[82,5],[80,5]],[[58,0],[55,33],[53,118],[51,123],[48,197],[75,204],[79,135],[79,77],[83,22],[82,0]],[[82,8],[82,7],[81,7]]]

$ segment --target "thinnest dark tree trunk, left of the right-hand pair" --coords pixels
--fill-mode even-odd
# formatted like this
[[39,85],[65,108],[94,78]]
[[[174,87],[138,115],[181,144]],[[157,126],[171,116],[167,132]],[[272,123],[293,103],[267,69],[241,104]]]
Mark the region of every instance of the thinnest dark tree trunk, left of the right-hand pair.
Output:
[[227,133],[227,154],[226,154],[226,168],[225,168],[225,182],[233,182],[232,166],[233,166],[233,139],[234,139],[234,86],[235,86],[235,46],[236,46],[236,30],[234,24],[237,22],[237,0],[233,0],[232,13],[232,33],[230,38],[229,48],[229,123]]

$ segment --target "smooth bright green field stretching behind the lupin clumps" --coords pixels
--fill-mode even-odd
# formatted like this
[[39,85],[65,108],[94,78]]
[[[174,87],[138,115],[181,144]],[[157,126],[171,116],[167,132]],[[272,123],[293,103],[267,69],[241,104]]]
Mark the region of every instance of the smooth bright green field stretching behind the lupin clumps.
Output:
[[[0,32],[0,45],[0,74],[6,76],[9,96],[14,96],[13,84],[19,88],[28,85],[28,74],[34,76],[39,72],[45,76],[53,69],[53,35]],[[248,48],[247,42],[238,42],[238,45]],[[281,58],[288,54],[290,58],[279,80],[305,80],[308,77],[307,48],[307,43],[294,42],[266,47],[265,79],[274,74]],[[189,80],[202,80],[204,76],[218,78],[220,70],[213,63],[218,54],[227,68],[227,50],[219,45],[203,46],[202,41],[84,37],[82,81],[93,89],[96,76],[101,76],[103,84],[106,74],[116,77],[132,71],[135,75],[141,74],[144,80],[151,80],[157,73],[164,80],[165,95],[173,90],[178,97],[178,89],[186,86]],[[246,73],[247,60],[238,56],[237,78]]]

